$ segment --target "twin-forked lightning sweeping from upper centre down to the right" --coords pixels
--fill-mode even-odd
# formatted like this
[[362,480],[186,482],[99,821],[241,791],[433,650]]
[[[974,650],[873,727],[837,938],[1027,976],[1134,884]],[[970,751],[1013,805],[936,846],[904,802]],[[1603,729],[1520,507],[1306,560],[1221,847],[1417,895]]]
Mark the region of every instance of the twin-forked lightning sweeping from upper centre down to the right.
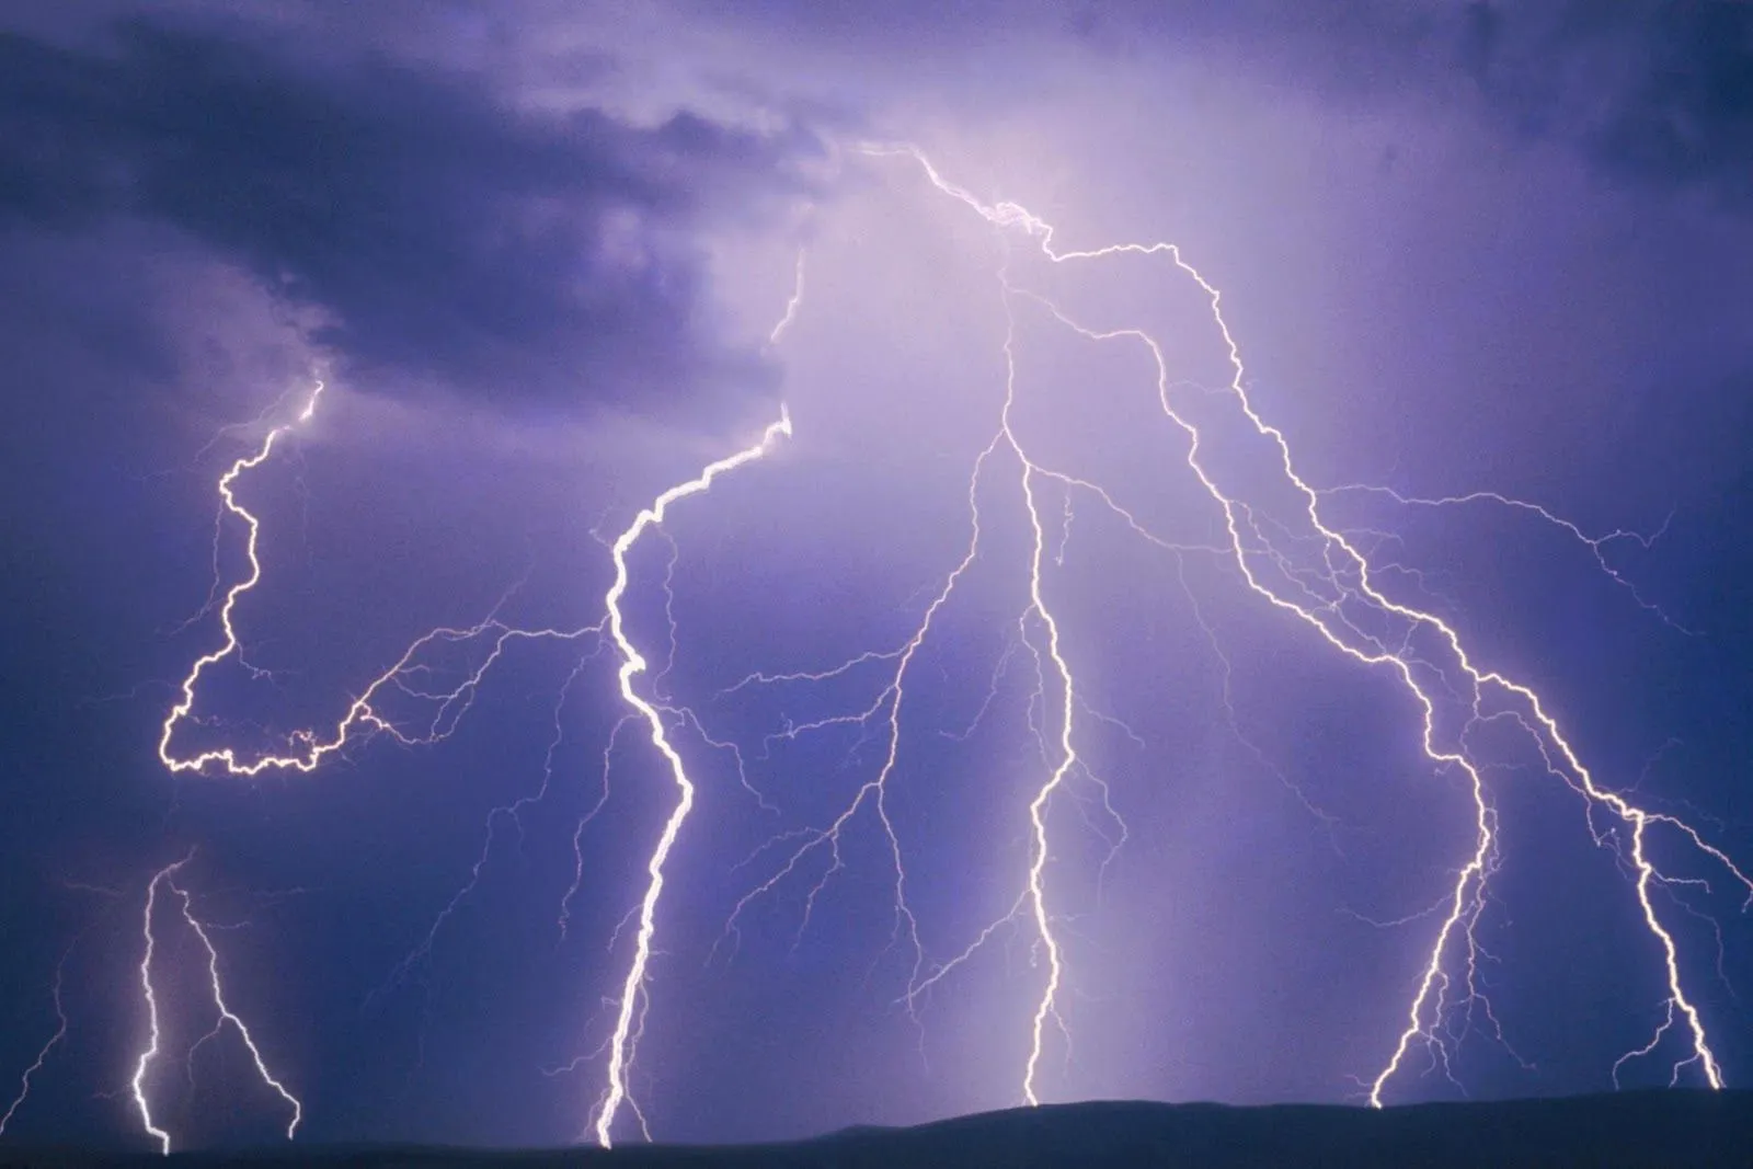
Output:
[[[1430,948],[1429,960],[1425,962],[1423,973],[1420,976],[1418,990],[1408,1011],[1408,1025],[1401,1032],[1399,1041],[1387,1066],[1371,1083],[1369,1102],[1378,1108],[1381,1106],[1383,1090],[1388,1080],[1401,1069],[1406,1052],[1415,1039],[1423,1038],[1429,1043],[1437,1043],[1437,1038],[1434,1034],[1436,1022],[1425,1022],[1427,1010],[1430,1010],[1432,1003],[1436,1004],[1434,1010],[1437,1013],[1441,1013],[1443,1010],[1443,988],[1448,985],[1448,976],[1443,973],[1443,966],[1453,934],[1457,931],[1466,932],[1469,939],[1469,955],[1476,952],[1476,943],[1471,943],[1471,925],[1478,918],[1478,910],[1481,906],[1481,896],[1483,896],[1481,889],[1487,876],[1492,871],[1492,859],[1495,855],[1495,847],[1497,847],[1494,834],[1495,813],[1492,811],[1490,803],[1487,799],[1485,782],[1480,773],[1480,768],[1478,764],[1473,762],[1473,759],[1467,754],[1466,729],[1462,731],[1453,747],[1444,747],[1439,745],[1437,741],[1439,738],[1437,703],[1434,698],[1434,691],[1430,689],[1430,682],[1427,678],[1430,673],[1441,677],[1443,671],[1432,662],[1415,654],[1415,641],[1420,638],[1425,641],[1434,638],[1437,648],[1444,648],[1446,655],[1453,659],[1453,662],[1471,682],[1473,698],[1469,703],[1471,712],[1466,724],[1467,727],[1473,727],[1480,720],[1488,717],[1483,713],[1483,703],[1487,694],[1495,694],[1502,699],[1518,703],[1522,710],[1532,715],[1532,722],[1537,726],[1536,741],[1541,747],[1541,750],[1544,752],[1548,743],[1553,748],[1557,748],[1557,754],[1565,768],[1565,775],[1562,775],[1562,778],[1565,778],[1565,782],[1576,787],[1590,801],[1590,806],[1602,806],[1609,810],[1630,829],[1629,864],[1636,871],[1634,887],[1637,903],[1643,911],[1644,925],[1650,931],[1651,938],[1658,943],[1658,950],[1664,959],[1669,1010],[1671,1013],[1678,1013],[1679,1017],[1685,1018],[1686,1029],[1692,1038],[1692,1055],[1676,1066],[1676,1074],[1681,1066],[1688,1062],[1697,1062],[1704,1073],[1706,1081],[1713,1088],[1720,1088],[1723,1085],[1721,1067],[1718,1066],[1716,1055],[1707,1043],[1702,1017],[1697,1006],[1686,997],[1681,987],[1679,955],[1674,936],[1662,924],[1650,896],[1650,885],[1653,882],[1665,882],[1667,878],[1662,876],[1662,873],[1655,868],[1655,864],[1650,861],[1646,854],[1646,829],[1651,824],[1662,824],[1672,829],[1674,832],[1685,836],[1695,848],[1699,848],[1707,857],[1725,866],[1728,873],[1748,890],[1749,899],[1753,899],[1753,880],[1749,880],[1739,868],[1735,868],[1735,864],[1723,852],[1706,843],[1704,838],[1688,824],[1665,813],[1651,813],[1644,808],[1632,804],[1618,792],[1602,789],[1595,782],[1588,768],[1583,766],[1576,750],[1564,736],[1558,722],[1548,713],[1544,701],[1539,698],[1536,691],[1497,671],[1481,670],[1467,655],[1466,648],[1462,647],[1460,634],[1453,626],[1450,626],[1441,617],[1436,617],[1429,612],[1401,605],[1378,589],[1378,585],[1371,580],[1369,559],[1353,543],[1350,543],[1339,529],[1329,526],[1322,519],[1318,507],[1320,492],[1309,487],[1309,484],[1304,482],[1295,473],[1290,457],[1290,447],[1288,442],[1285,440],[1285,435],[1274,426],[1267,424],[1260,417],[1260,414],[1253,408],[1253,403],[1248,400],[1246,389],[1243,387],[1241,352],[1234,337],[1229,331],[1229,324],[1222,315],[1220,310],[1222,294],[1218,293],[1218,289],[1182,258],[1180,249],[1175,244],[1166,244],[1166,242],[1113,244],[1090,251],[1057,251],[1054,247],[1052,224],[1036,217],[1027,209],[1013,202],[999,202],[996,205],[987,205],[980,202],[968,189],[945,181],[941,174],[936,170],[936,166],[917,147],[871,144],[861,147],[861,151],[871,156],[905,156],[915,159],[926,172],[926,177],[938,191],[964,203],[996,228],[1020,228],[1029,237],[1036,238],[1041,254],[1052,263],[1101,259],[1120,254],[1132,254],[1132,256],[1166,254],[1175,263],[1176,268],[1180,268],[1196,284],[1199,284],[1201,291],[1206,294],[1210,301],[1211,319],[1218,326],[1218,331],[1229,352],[1229,365],[1232,372],[1227,387],[1229,394],[1239,405],[1243,415],[1253,426],[1253,429],[1262,438],[1269,438],[1274,443],[1278,452],[1280,470],[1283,471],[1283,477],[1288,480],[1288,484],[1299,492],[1304,505],[1302,512],[1306,515],[1313,538],[1318,540],[1322,545],[1322,552],[1318,557],[1318,570],[1315,571],[1295,568],[1292,564],[1290,554],[1273,547],[1271,540],[1264,535],[1260,524],[1257,522],[1253,508],[1250,508],[1250,505],[1245,503],[1243,499],[1227,494],[1224,487],[1218,484],[1218,478],[1204,464],[1201,452],[1201,440],[1203,440],[1201,429],[1175,408],[1169,396],[1171,382],[1169,382],[1167,363],[1162,354],[1162,347],[1155,338],[1152,338],[1143,329],[1136,328],[1108,329],[1108,331],[1090,329],[1073,321],[1066,312],[1062,312],[1052,301],[1033,293],[1024,293],[1024,294],[1040,301],[1055,319],[1059,319],[1062,324],[1066,324],[1068,328],[1071,328],[1087,340],[1108,342],[1117,338],[1127,338],[1141,342],[1150,351],[1157,366],[1157,394],[1160,407],[1164,414],[1189,438],[1187,464],[1199,478],[1206,492],[1222,508],[1225,528],[1231,538],[1231,552],[1248,587],[1273,606],[1285,610],[1287,613],[1292,613],[1308,626],[1311,626],[1329,645],[1332,645],[1345,655],[1352,657],[1353,661],[1369,666],[1387,666],[1394,673],[1397,673],[1422,710],[1422,724],[1423,724],[1422,747],[1425,755],[1437,766],[1453,766],[1467,775],[1476,810],[1473,852],[1455,875],[1448,911],[1443,917],[1443,922],[1437,929],[1437,936]],[[1006,351],[1008,351],[1008,342],[1006,342]],[[1504,501],[1504,498],[1497,496],[1492,498]],[[1532,505],[1523,505],[1520,501],[1509,501],[1509,503],[1513,507],[1532,507]],[[1564,521],[1557,521],[1550,515],[1546,515],[1546,519],[1564,524]],[[1581,533],[1572,529],[1572,535],[1581,535]],[[1581,538],[1586,543],[1590,543],[1590,547],[1595,550],[1599,557],[1600,545],[1604,543],[1606,538],[1599,540],[1588,536]],[[1267,580],[1259,571],[1260,568],[1259,561],[1262,559],[1269,566],[1276,568],[1288,582],[1297,585],[1301,599],[1295,594],[1285,596],[1271,584],[1267,584]],[[1618,575],[1609,566],[1604,564],[1604,568],[1608,568],[1608,573],[1615,577],[1615,580],[1618,580]],[[1327,596],[1318,596],[1311,592],[1311,587],[1317,584],[1325,585],[1325,589],[1329,589]],[[1374,634],[1366,633],[1357,624],[1357,620],[1348,615],[1348,610],[1355,612],[1359,608],[1362,608],[1367,613],[1374,613],[1378,619],[1383,617],[1397,619],[1401,622],[1399,636],[1395,638],[1392,636],[1392,633],[1374,633]],[[1534,727],[1530,727],[1530,731]],[[1600,840],[1602,838],[1597,836],[1597,841]],[[1646,1048],[1639,1048],[1632,1055],[1643,1055],[1653,1050],[1655,1045],[1660,1041],[1662,1032],[1665,1031],[1667,1027],[1658,1031],[1655,1039],[1651,1039],[1651,1043]]]

